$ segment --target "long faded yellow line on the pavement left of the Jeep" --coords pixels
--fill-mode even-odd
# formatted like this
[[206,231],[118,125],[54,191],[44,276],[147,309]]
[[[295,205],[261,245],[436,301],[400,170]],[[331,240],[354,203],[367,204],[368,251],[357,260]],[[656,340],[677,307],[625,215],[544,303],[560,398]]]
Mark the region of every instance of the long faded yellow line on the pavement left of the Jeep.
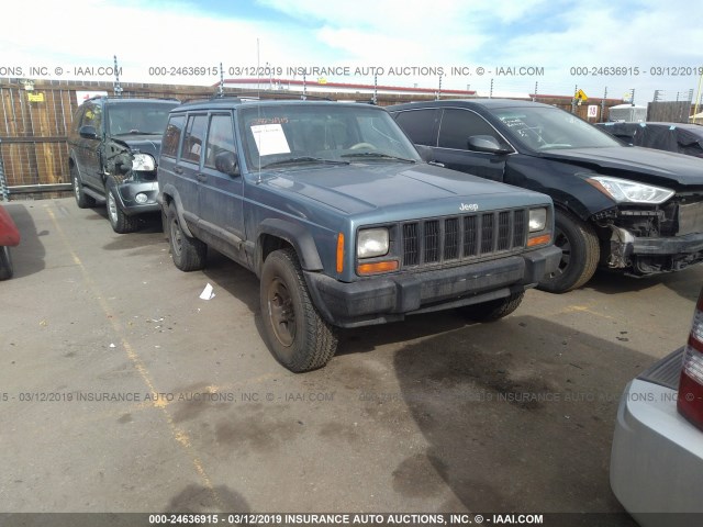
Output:
[[198,456],[196,456],[196,453],[193,452],[193,450],[191,448],[190,437],[188,436],[188,434],[185,430],[182,430],[181,428],[176,426],[176,423],[174,422],[172,416],[170,415],[170,413],[168,412],[168,408],[166,407],[167,403],[165,401],[161,401],[163,397],[158,397],[157,396],[157,394],[159,392],[154,388],[154,382],[152,381],[152,375],[149,374],[148,369],[144,365],[144,361],[138,356],[138,354],[134,350],[132,345],[122,336],[122,324],[120,323],[119,316],[116,314],[112,313],[112,311],[110,310],[110,306],[108,305],[108,303],[104,300],[104,295],[101,294],[100,289],[98,288],[98,285],[96,284],[96,282],[91,278],[90,273],[88,272],[88,270],[83,266],[82,261],[80,260],[80,258],[78,257],[78,255],[74,250],[74,248],[72,248],[70,242],[68,240],[68,237],[64,233],[64,229],[62,228],[60,224],[57,222],[56,215],[54,214],[54,211],[52,209],[49,209],[49,205],[47,205],[47,204],[44,205],[44,209],[46,210],[48,216],[51,217],[52,223],[54,224],[54,227],[56,228],[56,232],[58,233],[58,235],[62,238],[62,242],[64,243],[64,245],[68,249],[68,251],[69,251],[69,254],[71,256],[71,259],[74,260],[74,262],[80,269],[80,272],[81,272],[81,274],[83,277],[83,280],[86,281],[86,283],[88,284],[88,287],[92,291],[93,295],[96,296],[96,300],[100,304],[100,309],[105,314],[107,319],[110,321],[110,324],[112,325],[112,329],[115,332],[115,334],[118,334],[120,336],[120,341],[122,344],[122,348],[126,352],[130,361],[132,362],[132,365],[134,366],[136,371],[140,373],[140,377],[142,377],[142,380],[144,381],[144,383],[146,384],[148,390],[152,392],[152,395],[154,396],[153,405],[155,407],[159,408],[163,412],[164,417],[166,418],[166,423],[168,424],[168,426],[169,426],[169,428],[171,430],[171,435],[174,437],[174,440],[176,440],[186,450],[186,452],[188,453],[188,456],[192,460],[192,463],[193,463],[193,467],[194,467],[196,471],[198,472],[198,474],[202,479],[202,481],[204,483],[204,486],[208,489],[208,491],[212,495],[214,502],[217,504],[217,506],[220,507],[221,511],[225,511],[223,502],[220,498],[220,495],[217,494],[217,491],[215,491],[214,486],[212,485],[212,481],[210,480],[210,476],[208,475],[208,472],[205,471],[205,469],[202,466],[202,462],[200,461]]

